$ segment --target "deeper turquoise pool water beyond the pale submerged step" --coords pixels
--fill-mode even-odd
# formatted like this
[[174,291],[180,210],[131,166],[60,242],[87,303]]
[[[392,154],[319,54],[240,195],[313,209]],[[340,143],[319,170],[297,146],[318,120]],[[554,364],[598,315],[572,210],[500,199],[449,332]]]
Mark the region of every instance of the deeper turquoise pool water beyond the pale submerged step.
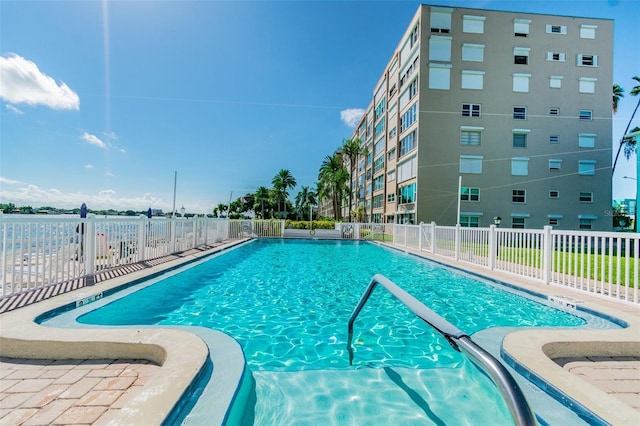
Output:
[[[582,318],[364,242],[259,240],[81,316],[102,325],[195,325],[243,347],[252,370],[349,368],[347,322],[381,273],[460,330],[579,326]],[[377,289],[354,329],[354,367],[455,367],[462,355]]]

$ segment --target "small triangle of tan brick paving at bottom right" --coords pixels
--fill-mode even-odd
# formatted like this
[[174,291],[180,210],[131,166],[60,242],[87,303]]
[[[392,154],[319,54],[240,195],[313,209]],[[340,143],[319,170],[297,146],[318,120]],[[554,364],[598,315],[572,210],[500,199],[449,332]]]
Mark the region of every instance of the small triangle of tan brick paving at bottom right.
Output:
[[554,361],[640,413],[640,356],[557,358]]

